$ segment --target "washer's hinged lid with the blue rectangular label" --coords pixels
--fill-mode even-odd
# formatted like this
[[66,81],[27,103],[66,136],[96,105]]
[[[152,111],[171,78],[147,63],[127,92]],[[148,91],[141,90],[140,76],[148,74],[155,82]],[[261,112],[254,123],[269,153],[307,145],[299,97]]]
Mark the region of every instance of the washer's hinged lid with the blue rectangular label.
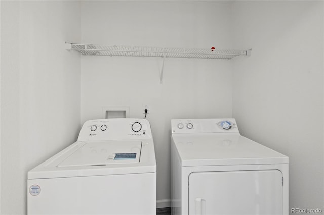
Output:
[[87,142],[57,167],[133,164],[140,159],[142,141]]

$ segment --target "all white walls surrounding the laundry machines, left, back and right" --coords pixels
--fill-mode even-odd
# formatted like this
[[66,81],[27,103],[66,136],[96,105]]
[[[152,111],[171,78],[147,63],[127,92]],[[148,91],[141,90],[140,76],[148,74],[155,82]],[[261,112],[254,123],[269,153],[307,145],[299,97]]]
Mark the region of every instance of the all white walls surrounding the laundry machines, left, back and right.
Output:
[[[101,118],[102,106],[141,118],[143,103],[158,200],[170,198],[170,120],[233,115],[242,134],[290,157],[290,207],[322,207],[323,2],[231,3],[0,1],[0,213],[26,213],[27,171]],[[161,59],[80,56],[65,41],[253,52],[166,59],[160,84]]]

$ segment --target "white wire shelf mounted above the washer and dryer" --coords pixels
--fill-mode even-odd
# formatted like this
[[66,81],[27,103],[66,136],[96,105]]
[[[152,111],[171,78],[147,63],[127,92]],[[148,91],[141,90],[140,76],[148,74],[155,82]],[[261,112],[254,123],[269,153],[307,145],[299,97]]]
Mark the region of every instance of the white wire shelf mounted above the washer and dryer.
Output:
[[160,48],[145,46],[117,46],[67,43],[70,50],[82,55],[99,56],[134,56],[134,57],[166,57],[166,58],[200,58],[200,59],[232,59],[236,56],[250,56],[249,50],[217,50],[198,48]]

